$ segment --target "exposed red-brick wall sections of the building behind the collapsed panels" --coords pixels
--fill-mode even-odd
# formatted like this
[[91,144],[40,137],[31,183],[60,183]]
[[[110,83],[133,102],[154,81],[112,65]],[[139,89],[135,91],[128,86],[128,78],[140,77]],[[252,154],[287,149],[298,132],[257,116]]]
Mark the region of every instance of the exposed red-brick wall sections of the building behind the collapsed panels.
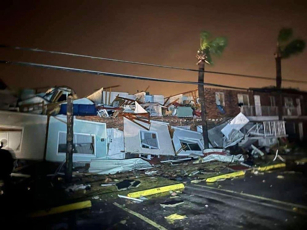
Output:
[[[205,107],[208,129],[235,117],[240,111],[253,122],[278,120],[278,102],[280,94],[274,88],[251,88],[249,90],[230,90],[205,88]],[[283,119],[286,134],[290,140],[307,140],[307,93],[294,89],[283,89]],[[78,116],[78,119],[105,122],[107,128],[123,130],[123,118],[105,118],[96,116]],[[169,122],[172,126],[183,126],[197,130],[201,125],[200,117],[151,117],[155,121]]]

